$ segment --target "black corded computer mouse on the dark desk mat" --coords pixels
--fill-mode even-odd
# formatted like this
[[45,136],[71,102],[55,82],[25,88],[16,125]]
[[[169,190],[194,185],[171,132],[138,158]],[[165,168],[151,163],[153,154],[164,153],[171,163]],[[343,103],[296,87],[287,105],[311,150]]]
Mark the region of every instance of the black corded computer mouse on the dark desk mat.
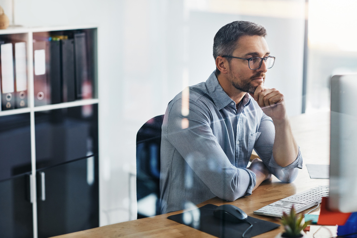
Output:
[[248,218],[248,215],[242,209],[231,204],[217,206],[213,214],[219,219],[236,223],[244,222]]

